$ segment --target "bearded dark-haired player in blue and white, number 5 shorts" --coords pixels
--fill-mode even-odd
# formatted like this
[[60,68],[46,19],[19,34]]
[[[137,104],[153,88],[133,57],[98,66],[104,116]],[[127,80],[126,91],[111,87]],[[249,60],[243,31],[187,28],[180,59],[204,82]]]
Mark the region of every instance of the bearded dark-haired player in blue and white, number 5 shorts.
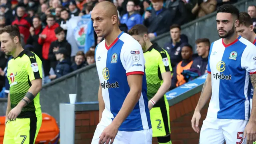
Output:
[[[200,132],[201,144],[252,144],[256,140],[256,46],[236,33],[238,19],[239,10],[233,5],[217,10],[220,39],[211,44],[208,75],[191,120],[194,131]],[[200,110],[210,97],[200,131]]]

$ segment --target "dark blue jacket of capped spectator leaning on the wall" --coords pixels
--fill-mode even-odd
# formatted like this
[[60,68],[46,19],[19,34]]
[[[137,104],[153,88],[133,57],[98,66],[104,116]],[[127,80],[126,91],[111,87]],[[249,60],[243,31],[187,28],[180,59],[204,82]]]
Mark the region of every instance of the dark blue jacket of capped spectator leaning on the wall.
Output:
[[55,68],[56,78],[60,78],[71,72],[71,61],[69,59],[64,59],[58,62]]

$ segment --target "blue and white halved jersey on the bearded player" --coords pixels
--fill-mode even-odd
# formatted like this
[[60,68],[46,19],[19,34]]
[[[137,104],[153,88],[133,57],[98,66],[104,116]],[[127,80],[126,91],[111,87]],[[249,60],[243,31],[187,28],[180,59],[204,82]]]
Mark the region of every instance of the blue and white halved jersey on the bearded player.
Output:
[[212,98],[208,117],[248,120],[250,117],[250,74],[256,73],[256,46],[238,37],[231,44],[223,39],[211,44],[208,73]]

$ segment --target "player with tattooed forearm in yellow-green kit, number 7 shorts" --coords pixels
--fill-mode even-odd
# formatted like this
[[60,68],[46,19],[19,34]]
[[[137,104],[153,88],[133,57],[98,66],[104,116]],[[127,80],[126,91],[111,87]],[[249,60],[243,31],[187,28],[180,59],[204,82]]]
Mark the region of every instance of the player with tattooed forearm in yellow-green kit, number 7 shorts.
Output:
[[42,88],[42,62],[20,44],[16,26],[0,30],[1,48],[12,55],[8,62],[8,94],[4,144],[34,144],[42,124],[39,91]]

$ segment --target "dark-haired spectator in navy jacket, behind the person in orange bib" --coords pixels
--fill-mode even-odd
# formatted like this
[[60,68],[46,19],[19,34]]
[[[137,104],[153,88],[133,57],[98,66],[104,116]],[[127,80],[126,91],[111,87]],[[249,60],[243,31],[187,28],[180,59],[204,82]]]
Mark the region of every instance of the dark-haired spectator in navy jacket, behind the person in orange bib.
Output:
[[164,49],[170,55],[172,68],[174,68],[178,62],[182,61],[181,48],[183,44],[188,43],[186,36],[183,36],[185,38],[182,39],[180,33],[180,26],[177,24],[172,25],[170,27],[171,40],[164,44]]

